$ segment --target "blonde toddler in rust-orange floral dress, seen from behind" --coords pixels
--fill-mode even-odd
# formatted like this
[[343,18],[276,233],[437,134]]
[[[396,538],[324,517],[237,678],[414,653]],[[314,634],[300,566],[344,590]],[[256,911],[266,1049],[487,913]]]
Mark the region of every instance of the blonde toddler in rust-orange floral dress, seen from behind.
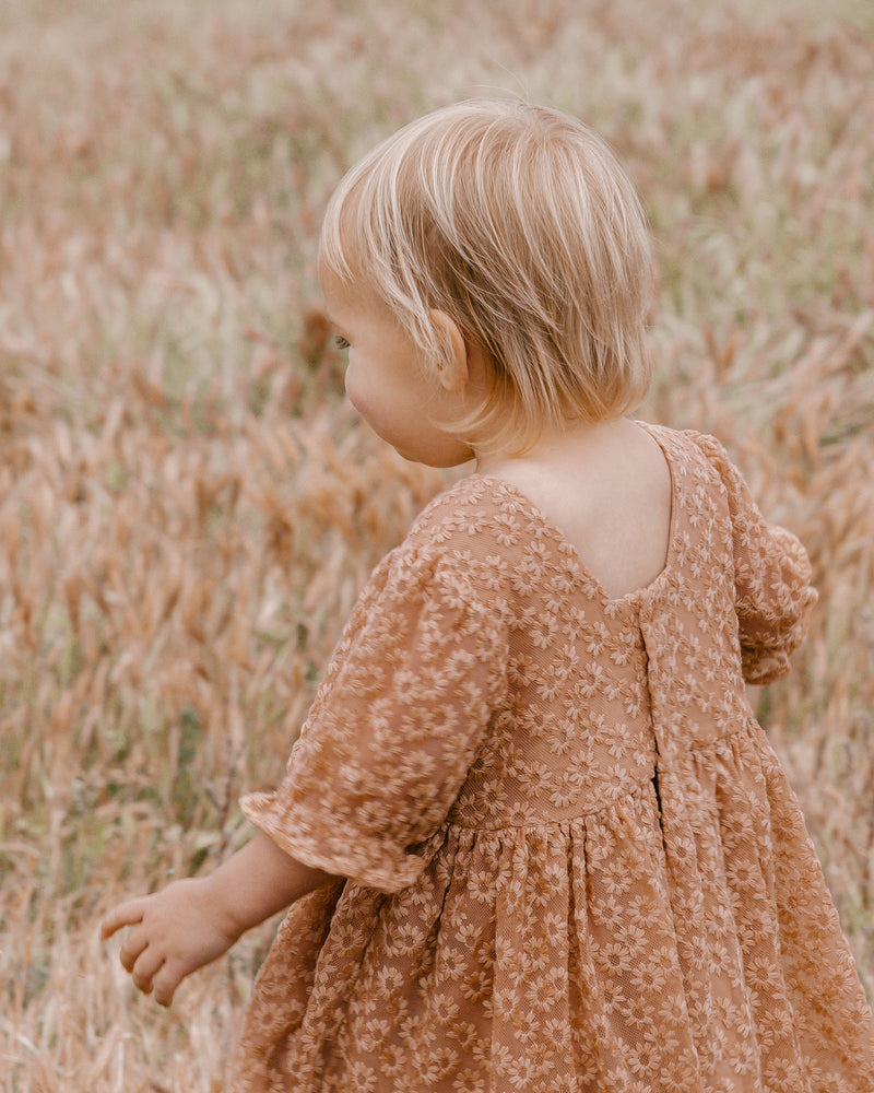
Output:
[[375,571],[258,828],[111,912],[181,979],[291,905],[234,1093],[871,1093],[874,1023],[745,696],[815,600],[712,437],[633,420],[653,265],[590,130],[438,110],[328,208],[346,390],[473,460]]

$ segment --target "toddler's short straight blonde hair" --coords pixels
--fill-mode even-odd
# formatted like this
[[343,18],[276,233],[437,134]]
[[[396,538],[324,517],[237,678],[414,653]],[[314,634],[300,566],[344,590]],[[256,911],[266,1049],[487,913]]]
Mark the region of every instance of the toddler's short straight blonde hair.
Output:
[[474,99],[405,126],[341,180],[320,261],[365,277],[432,359],[432,308],[483,345],[493,383],[459,433],[523,450],[649,387],[646,215],[605,142],[558,110]]

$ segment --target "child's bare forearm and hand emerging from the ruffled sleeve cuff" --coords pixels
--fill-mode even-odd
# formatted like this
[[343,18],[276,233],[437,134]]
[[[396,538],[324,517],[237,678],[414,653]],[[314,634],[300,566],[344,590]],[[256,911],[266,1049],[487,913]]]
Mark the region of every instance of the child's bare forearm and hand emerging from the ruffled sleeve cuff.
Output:
[[121,963],[143,994],[169,1006],[191,972],[225,953],[250,929],[333,880],[281,850],[259,832],[215,872],[176,881],[161,892],[121,904],[101,925],[101,937],[132,927]]

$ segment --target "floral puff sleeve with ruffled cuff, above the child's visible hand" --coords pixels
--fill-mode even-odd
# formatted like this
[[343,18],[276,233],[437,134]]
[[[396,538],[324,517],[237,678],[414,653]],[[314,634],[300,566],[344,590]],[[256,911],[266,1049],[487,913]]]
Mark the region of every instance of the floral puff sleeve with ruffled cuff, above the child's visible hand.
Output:
[[240,802],[286,853],[386,892],[424,869],[507,660],[507,621],[475,560],[408,543],[362,593],[282,784]]

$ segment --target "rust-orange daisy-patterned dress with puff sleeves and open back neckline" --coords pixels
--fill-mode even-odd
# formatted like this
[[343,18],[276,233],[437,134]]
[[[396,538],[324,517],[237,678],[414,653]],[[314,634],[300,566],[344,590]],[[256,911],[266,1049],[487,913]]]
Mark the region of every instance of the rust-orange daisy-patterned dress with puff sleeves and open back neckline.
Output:
[[610,599],[473,475],[377,567],[274,794],[350,878],[285,917],[233,1093],[871,1093],[874,1022],[744,679],[810,565],[712,437],[646,425],[665,568]]

